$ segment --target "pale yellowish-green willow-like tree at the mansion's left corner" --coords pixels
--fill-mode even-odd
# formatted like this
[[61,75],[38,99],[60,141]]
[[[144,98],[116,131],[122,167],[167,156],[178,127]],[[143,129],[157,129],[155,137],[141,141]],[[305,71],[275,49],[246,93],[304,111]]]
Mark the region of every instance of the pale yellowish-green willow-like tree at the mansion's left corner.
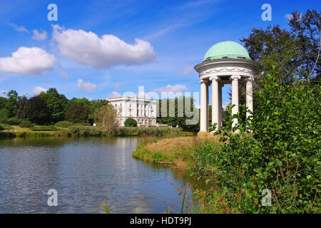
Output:
[[117,112],[113,105],[103,105],[95,111],[94,116],[99,127],[106,128],[109,134],[114,132],[117,125]]

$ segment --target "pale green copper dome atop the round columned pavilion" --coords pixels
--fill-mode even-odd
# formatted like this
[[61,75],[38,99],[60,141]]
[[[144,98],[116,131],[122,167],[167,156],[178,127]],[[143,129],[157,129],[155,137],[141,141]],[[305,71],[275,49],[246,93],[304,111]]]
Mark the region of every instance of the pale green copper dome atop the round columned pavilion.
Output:
[[224,58],[251,60],[250,56],[248,56],[248,51],[246,51],[246,49],[240,45],[240,43],[236,43],[234,41],[223,41],[216,43],[210,49],[208,49],[204,56],[203,62]]

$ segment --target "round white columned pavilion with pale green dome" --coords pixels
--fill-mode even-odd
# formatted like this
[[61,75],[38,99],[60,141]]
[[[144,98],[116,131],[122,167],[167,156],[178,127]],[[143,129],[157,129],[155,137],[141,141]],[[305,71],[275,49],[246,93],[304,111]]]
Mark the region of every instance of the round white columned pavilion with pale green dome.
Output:
[[[258,63],[239,43],[223,41],[208,49],[202,63],[194,67],[200,79],[200,133],[206,133],[209,129],[209,86],[212,86],[212,124],[217,123],[215,130],[222,126],[222,87],[225,84],[232,84],[232,105],[235,105],[232,115],[239,111],[241,83],[246,85],[246,108],[253,112],[253,76],[257,66]],[[238,119],[233,119],[232,127],[237,124]]]

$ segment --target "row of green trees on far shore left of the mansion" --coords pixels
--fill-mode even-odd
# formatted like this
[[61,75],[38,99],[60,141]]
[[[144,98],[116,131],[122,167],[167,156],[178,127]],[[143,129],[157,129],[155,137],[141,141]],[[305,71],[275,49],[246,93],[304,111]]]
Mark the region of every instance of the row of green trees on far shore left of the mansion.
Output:
[[104,105],[108,105],[108,100],[69,100],[56,88],[49,88],[31,98],[11,90],[6,97],[0,97],[0,122],[18,125],[21,120],[29,120],[36,125],[54,125],[66,120],[93,124],[95,111]]

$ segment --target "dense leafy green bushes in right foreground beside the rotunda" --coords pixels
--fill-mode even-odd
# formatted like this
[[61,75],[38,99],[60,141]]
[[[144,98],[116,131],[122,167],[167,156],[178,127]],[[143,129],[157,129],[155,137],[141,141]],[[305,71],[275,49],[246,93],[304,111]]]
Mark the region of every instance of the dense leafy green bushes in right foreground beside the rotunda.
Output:
[[[320,86],[280,86],[272,75],[261,83],[253,119],[241,120],[238,134],[230,132],[228,120],[218,133],[220,150],[208,144],[195,151],[205,163],[199,167],[210,164],[223,190],[207,194],[220,199],[216,209],[223,212],[320,213]],[[265,189],[271,191],[270,207],[261,204]]]

